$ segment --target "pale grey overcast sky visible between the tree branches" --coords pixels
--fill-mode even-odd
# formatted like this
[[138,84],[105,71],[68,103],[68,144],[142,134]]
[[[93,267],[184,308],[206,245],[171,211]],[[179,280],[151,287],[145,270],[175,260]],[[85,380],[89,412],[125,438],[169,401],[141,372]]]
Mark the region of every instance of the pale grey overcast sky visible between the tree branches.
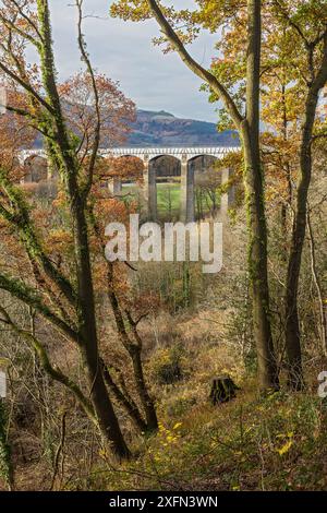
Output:
[[[76,12],[71,0],[50,0],[57,68],[66,79],[82,68],[76,47]],[[167,110],[175,116],[216,121],[215,107],[198,92],[201,81],[175,55],[164,56],[152,38],[159,34],[156,22],[129,23],[111,19],[111,0],[84,0],[84,33],[92,61],[98,71],[118,80],[138,108]],[[174,4],[177,2],[173,2]],[[192,0],[184,1],[192,5]],[[192,55],[208,65],[214,37],[204,34],[192,45]]]

